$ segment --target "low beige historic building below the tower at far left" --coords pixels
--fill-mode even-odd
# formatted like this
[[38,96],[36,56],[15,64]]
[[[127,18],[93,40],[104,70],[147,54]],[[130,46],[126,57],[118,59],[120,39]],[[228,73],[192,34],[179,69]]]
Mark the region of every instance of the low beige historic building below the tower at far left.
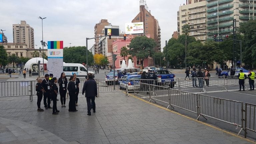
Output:
[[[28,57],[33,58],[34,51],[38,51],[39,49],[34,48],[28,48],[27,44],[25,43],[3,43],[4,49],[8,53],[8,56],[11,54],[16,54],[18,57]],[[42,57],[42,50],[41,53],[39,53],[39,57]],[[47,49],[44,49],[44,53],[47,56]]]

